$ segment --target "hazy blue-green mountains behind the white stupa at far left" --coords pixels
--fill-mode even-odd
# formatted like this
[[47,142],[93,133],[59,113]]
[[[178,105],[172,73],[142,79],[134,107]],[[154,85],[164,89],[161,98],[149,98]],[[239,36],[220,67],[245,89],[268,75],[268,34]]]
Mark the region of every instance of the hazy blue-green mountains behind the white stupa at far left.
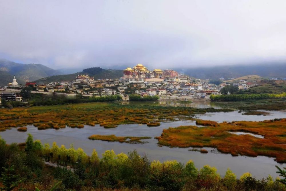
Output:
[[19,84],[25,84],[39,78],[62,74],[42,64],[19,64],[6,59],[0,59],[0,72],[0,86],[12,82],[14,75]]

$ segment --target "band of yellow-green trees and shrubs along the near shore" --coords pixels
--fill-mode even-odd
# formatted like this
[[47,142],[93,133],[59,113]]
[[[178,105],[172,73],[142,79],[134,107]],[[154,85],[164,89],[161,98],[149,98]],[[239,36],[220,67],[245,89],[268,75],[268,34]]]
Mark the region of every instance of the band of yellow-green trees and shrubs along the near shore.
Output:
[[[96,150],[88,156],[83,149],[59,147],[55,142],[42,145],[28,134],[25,143],[6,144],[0,137],[1,190],[285,190],[283,177],[258,180],[250,173],[239,179],[227,170],[222,178],[215,167],[198,170],[192,161],[150,161],[136,150],[125,153],[105,151],[100,158]],[[56,168],[43,164],[56,163]],[[69,168],[67,168],[69,167]],[[57,188],[55,188],[57,187]]]

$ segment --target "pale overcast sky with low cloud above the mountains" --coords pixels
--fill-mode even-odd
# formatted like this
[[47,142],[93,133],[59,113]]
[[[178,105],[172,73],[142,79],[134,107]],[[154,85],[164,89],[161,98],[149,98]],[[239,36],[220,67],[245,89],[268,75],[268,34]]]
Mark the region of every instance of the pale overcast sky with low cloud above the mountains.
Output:
[[286,0],[0,0],[0,58],[54,69],[286,60]]

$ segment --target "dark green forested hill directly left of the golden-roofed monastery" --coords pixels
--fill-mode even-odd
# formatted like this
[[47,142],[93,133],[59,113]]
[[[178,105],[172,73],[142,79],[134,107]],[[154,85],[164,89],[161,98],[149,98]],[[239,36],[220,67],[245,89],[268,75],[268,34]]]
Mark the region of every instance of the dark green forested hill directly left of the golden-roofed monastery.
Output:
[[76,79],[78,74],[88,74],[89,76],[93,76],[94,79],[115,79],[123,76],[122,70],[111,70],[111,69],[103,69],[103,68],[87,68],[82,70],[82,72],[74,73],[74,74],[65,74],[65,75],[57,75],[57,76],[49,76],[46,78],[41,78],[36,80],[37,83],[48,83],[48,82],[66,82],[72,81]]

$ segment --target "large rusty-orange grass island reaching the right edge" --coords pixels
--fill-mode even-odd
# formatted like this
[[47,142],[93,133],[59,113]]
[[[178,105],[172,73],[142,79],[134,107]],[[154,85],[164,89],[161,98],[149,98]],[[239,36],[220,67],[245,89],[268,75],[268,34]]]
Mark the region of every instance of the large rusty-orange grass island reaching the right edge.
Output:
[[[170,147],[215,147],[222,153],[233,156],[264,155],[275,157],[277,162],[286,162],[286,119],[265,120],[261,122],[238,121],[219,123],[216,127],[180,126],[164,129],[158,144]],[[228,133],[250,132],[264,136]],[[202,149],[201,149],[202,150]]]

